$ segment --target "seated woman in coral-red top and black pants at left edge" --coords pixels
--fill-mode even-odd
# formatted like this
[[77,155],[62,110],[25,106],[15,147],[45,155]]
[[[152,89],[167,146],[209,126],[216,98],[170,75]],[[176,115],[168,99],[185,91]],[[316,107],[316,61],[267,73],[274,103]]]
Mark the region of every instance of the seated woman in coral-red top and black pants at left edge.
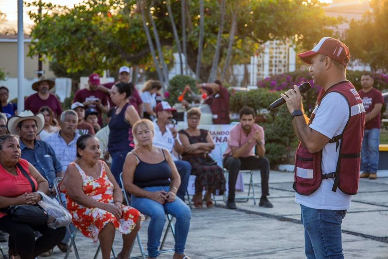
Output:
[[[37,191],[47,193],[49,190],[49,184],[45,178],[32,164],[20,156],[20,146],[16,136],[1,136],[0,208],[23,204],[34,205],[41,199]],[[24,176],[20,168],[30,176],[30,179]],[[46,223],[42,225],[16,223],[11,215],[4,212],[0,212],[0,230],[10,235],[8,241],[10,258],[20,259],[34,259],[48,251],[64,238],[66,232],[65,227],[53,229]],[[38,231],[42,236],[35,240],[34,231]]]

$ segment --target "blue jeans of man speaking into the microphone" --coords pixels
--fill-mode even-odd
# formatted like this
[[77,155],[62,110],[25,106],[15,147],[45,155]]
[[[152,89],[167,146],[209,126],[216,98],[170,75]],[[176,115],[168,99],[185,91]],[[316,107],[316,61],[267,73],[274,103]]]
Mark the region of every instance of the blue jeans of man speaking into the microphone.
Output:
[[346,210],[300,207],[307,259],[342,259],[341,224]]

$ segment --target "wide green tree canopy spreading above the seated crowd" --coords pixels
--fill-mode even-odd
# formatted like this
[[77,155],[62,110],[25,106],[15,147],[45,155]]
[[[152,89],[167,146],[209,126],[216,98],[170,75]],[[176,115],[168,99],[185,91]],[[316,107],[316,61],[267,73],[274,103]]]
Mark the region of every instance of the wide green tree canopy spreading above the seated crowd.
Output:
[[[231,64],[248,63],[249,57],[267,40],[291,39],[299,48],[308,49],[323,36],[333,35],[331,28],[340,22],[338,18],[326,17],[318,0],[239,0],[238,4],[225,0],[225,8],[221,8],[222,2],[203,0],[204,40],[199,78],[204,81],[209,78],[216,49],[219,58],[215,60],[219,64],[225,63],[228,51],[231,52]],[[36,1],[30,5],[38,4]],[[186,32],[187,46],[183,49],[187,50],[188,65],[195,72],[199,49],[199,4],[199,0],[185,0],[182,6],[181,0],[84,0],[67,8],[43,3],[41,16],[37,11],[30,12],[35,26],[29,55],[45,55],[56,63],[53,68],[57,72],[65,71],[69,76],[90,70],[117,71],[122,65],[140,65],[154,71],[155,60],[162,67],[161,56],[155,48],[156,58],[152,59],[140,11],[144,8],[152,42],[160,42],[167,65],[173,60],[172,53],[177,52],[177,40],[169,16],[173,16],[181,44],[182,30]],[[222,16],[224,24],[217,40]],[[233,45],[228,48],[233,19],[236,19]],[[183,28],[182,24],[186,27]],[[159,40],[152,28],[156,28]]]

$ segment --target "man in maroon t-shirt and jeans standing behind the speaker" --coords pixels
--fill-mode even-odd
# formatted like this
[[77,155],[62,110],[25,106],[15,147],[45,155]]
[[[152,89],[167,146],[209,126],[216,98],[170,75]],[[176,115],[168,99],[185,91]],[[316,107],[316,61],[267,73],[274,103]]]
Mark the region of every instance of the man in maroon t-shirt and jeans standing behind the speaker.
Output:
[[380,111],[384,104],[381,92],[373,88],[371,73],[361,76],[362,89],[358,91],[365,108],[365,131],[361,148],[360,178],[376,179],[379,164]]

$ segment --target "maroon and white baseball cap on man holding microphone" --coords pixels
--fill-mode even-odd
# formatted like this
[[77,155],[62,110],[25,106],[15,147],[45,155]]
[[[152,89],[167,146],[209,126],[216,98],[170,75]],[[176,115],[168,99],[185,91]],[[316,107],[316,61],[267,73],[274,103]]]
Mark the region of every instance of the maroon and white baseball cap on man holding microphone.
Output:
[[300,53],[298,57],[307,64],[311,64],[311,57],[318,53],[331,57],[345,67],[350,58],[348,47],[338,39],[331,37],[323,37],[311,51]]

